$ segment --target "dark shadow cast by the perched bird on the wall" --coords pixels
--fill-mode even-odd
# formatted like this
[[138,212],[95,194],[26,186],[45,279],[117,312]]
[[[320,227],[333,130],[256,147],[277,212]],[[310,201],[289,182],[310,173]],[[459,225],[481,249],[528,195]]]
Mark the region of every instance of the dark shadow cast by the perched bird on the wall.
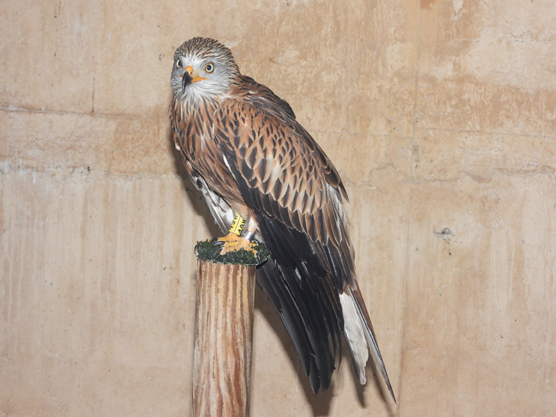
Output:
[[[190,199],[190,202],[192,203],[195,212],[201,215],[206,220],[206,226],[208,227],[208,231],[210,232],[211,236],[213,237],[222,236],[222,231],[220,231],[218,226],[212,220],[211,212],[208,210],[208,206],[206,206],[206,203],[204,202],[204,197],[202,196],[201,192],[197,190],[195,186],[193,186],[193,183],[191,183],[189,179],[189,175],[185,165],[183,164],[183,159],[181,158],[181,154],[174,146],[174,137],[173,137],[172,130],[170,128],[167,131],[167,136],[168,136],[167,142],[168,142],[168,146],[170,147],[170,152],[172,153],[172,156],[174,156],[174,166],[176,169],[176,173],[179,175],[179,177],[181,177],[183,183],[183,189],[185,190],[186,195]],[[196,279],[195,273],[196,272],[193,273],[192,276],[193,279]],[[332,398],[334,397],[334,380],[332,381],[332,386],[330,387],[329,390],[325,392],[313,394],[313,391],[311,390],[311,386],[309,385],[309,379],[306,377],[302,369],[302,366],[300,366],[297,353],[295,352],[295,347],[293,347],[293,344],[291,343],[291,338],[288,335],[288,332],[286,332],[286,328],[282,324],[277,312],[272,307],[272,304],[270,304],[268,299],[265,297],[263,291],[261,291],[261,289],[258,286],[256,288],[256,293],[255,293],[255,309],[261,311],[265,320],[268,322],[270,327],[272,327],[272,330],[279,337],[281,344],[284,347],[284,350],[286,351],[286,354],[288,355],[289,359],[293,363],[295,372],[297,373],[297,379],[300,381],[300,384],[305,394],[305,398],[307,402],[311,405],[313,416],[329,416],[330,404],[332,402]],[[347,350],[345,343],[344,343],[343,350]],[[342,352],[342,354],[344,360],[345,359],[347,359],[348,361],[351,360],[349,352],[347,351]],[[373,361],[370,362],[372,363]],[[382,388],[382,385],[379,382],[379,378],[377,376],[378,375],[377,370],[374,366],[374,363],[372,366],[373,366],[373,377],[375,379],[376,385],[379,387],[379,393],[382,397],[382,400],[384,400],[384,402],[389,404],[389,401],[386,399],[387,393],[385,393],[384,389]],[[353,377],[356,378],[353,369],[352,369],[352,374]],[[355,384],[355,386],[357,390],[357,398],[359,400],[359,404],[361,404],[361,407],[364,408],[365,407],[364,393],[366,387],[360,385],[359,383]],[[390,411],[389,414],[391,416],[394,416],[393,409],[391,409],[390,406],[389,406],[389,411]]]

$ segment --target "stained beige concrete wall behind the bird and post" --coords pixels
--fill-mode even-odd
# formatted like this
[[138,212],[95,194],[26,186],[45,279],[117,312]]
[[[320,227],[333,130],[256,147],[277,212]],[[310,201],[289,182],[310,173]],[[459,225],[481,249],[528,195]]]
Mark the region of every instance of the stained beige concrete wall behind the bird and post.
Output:
[[167,122],[204,35],[343,175],[400,404],[314,398],[259,292],[252,416],[553,416],[553,0],[4,1],[0,414],[188,416],[196,240]]

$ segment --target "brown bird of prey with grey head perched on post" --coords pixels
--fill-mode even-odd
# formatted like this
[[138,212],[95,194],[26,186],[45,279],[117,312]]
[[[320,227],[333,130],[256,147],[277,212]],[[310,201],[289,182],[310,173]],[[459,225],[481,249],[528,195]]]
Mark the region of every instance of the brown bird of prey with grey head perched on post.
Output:
[[220,42],[193,38],[174,54],[170,124],[193,184],[225,233],[222,253],[264,242],[256,282],[291,337],[314,393],[330,386],[343,335],[366,383],[370,352],[395,400],[354,275],[345,188],[289,104],[240,73]]

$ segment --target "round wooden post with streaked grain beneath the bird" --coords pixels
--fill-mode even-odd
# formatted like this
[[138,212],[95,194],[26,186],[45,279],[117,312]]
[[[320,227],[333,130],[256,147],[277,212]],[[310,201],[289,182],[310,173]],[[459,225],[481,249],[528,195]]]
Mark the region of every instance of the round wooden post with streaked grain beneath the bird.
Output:
[[221,248],[208,240],[195,247],[193,417],[249,416],[255,265],[261,259],[250,265],[238,259],[216,263]]

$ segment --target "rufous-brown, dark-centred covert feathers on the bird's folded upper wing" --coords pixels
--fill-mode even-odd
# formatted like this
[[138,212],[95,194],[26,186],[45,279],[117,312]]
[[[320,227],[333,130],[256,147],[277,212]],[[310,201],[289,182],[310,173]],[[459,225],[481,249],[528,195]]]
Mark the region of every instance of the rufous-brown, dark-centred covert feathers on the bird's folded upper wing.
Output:
[[343,240],[337,207],[329,204],[331,199],[341,204],[345,197],[338,172],[286,111],[227,99],[218,108],[214,134],[228,163],[235,165],[231,171],[238,185],[245,183],[262,215],[312,240],[330,239],[334,245]]

